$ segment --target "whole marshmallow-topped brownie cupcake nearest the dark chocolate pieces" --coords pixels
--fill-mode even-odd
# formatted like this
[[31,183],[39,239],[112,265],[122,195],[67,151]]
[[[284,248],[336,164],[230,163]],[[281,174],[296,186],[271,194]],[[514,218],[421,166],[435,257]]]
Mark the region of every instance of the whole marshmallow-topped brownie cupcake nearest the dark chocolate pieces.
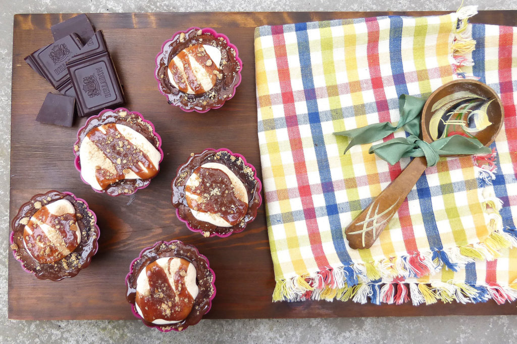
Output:
[[111,196],[149,185],[163,159],[153,124],[124,108],[90,117],[77,133],[73,152],[83,182]]

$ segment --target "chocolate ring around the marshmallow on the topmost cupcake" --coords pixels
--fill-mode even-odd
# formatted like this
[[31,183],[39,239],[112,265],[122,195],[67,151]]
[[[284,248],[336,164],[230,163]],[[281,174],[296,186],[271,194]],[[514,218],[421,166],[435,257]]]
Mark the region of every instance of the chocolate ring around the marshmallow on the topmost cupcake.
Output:
[[[160,54],[156,77],[159,80],[161,91],[167,95],[169,103],[180,106],[184,110],[204,111],[206,109],[218,108],[233,96],[236,85],[240,82],[241,65],[237,61],[235,49],[229,47],[228,42],[223,38],[216,38],[210,33],[201,33],[199,29],[191,29],[183,35],[176,35],[171,41],[167,42]],[[176,88],[169,81],[167,69],[172,59],[179,52],[196,45],[208,44],[216,47],[221,52],[220,77],[218,77],[214,87],[208,92],[199,94],[187,94]],[[212,71],[213,73],[213,71]],[[179,85],[179,84],[178,84]]]

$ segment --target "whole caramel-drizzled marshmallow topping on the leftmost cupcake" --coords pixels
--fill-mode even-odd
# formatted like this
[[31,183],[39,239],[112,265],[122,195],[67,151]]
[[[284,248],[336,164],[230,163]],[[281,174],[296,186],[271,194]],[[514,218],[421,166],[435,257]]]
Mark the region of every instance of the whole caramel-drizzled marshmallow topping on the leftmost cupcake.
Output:
[[65,199],[40,207],[24,227],[25,249],[40,263],[63,259],[80,243],[75,208]]

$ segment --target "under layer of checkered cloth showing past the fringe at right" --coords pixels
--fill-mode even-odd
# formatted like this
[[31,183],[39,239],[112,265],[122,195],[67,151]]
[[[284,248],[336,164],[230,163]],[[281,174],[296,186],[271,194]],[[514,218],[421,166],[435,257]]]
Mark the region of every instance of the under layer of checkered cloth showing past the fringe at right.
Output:
[[[504,126],[492,145],[497,151],[497,170],[491,176],[493,186],[485,187],[485,192],[488,190],[500,201],[503,227],[514,233],[514,218],[517,218],[517,27],[473,24],[472,36],[476,40],[472,73],[499,94],[505,109]],[[503,250],[494,261],[469,263],[458,272],[444,268],[432,276],[407,282],[434,286],[464,282],[481,291],[480,301],[489,298],[497,303],[513,301],[517,298],[517,249]],[[487,288],[483,290],[481,286]]]

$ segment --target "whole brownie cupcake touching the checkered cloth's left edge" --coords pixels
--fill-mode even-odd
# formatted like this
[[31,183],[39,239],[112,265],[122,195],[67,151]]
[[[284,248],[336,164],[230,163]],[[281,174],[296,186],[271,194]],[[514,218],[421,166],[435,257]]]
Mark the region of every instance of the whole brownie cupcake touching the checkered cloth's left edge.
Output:
[[244,230],[262,203],[255,168],[226,148],[192,153],[171,187],[176,216],[206,237]]

